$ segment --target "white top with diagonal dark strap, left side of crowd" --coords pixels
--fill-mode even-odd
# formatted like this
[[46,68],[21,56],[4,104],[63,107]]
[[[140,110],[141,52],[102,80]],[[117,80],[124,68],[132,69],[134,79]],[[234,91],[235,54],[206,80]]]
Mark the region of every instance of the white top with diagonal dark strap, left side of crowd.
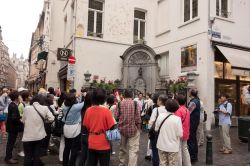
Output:
[[[33,103],[33,105],[46,121],[52,122],[54,120],[55,117],[47,106],[42,106],[37,102]],[[32,105],[24,108],[22,117],[22,122],[24,123],[23,142],[38,141],[46,136],[44,122],[37,111]]]

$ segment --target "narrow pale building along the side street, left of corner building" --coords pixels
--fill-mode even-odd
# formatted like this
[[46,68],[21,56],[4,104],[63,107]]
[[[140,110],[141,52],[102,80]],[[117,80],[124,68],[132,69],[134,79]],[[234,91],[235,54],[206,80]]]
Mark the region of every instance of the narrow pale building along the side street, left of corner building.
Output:
[[62,0],[45,0],[37,28],[32,35],[29,64],[29,88],[59,87],[57,49],[63,46]]

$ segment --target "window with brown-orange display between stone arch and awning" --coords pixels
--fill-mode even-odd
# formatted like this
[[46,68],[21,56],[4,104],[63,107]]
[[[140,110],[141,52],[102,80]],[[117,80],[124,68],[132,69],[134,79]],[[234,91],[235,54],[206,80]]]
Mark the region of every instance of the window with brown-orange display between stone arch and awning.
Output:
[[181,49],[181,68],[182,71],[196,70],[197,66],[197,47],[191,45]]

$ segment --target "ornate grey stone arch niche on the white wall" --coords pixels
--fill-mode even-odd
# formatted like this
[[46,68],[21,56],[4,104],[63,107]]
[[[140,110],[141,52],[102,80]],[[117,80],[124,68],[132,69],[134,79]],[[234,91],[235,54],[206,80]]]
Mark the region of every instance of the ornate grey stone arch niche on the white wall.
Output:
[[122,83],[124,87],[136,88],[140,80],[143,80],[144,92],[155,92],[156,82],[159,78],[155,51],[147,45],[136,44],[129,47],[121,58],[123,60]]

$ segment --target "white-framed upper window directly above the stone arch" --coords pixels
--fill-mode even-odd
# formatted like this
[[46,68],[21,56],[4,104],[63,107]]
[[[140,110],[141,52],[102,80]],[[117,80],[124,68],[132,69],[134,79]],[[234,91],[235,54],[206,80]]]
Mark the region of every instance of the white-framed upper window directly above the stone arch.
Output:
[[[145,14],[145,19],[136,18],[135,17],[135,11],[143,12]],[[146,41],[146,34],[147,34],[147,11],[142,9],[134,9],[134,27],[135,28],[135,21],[137,21],[138,27],[137,27],[137,40],[135,40],[135,34],[133,30],[133,42],[139,43],[140,41]],[[144,29],[144,39],[141,39],[141,22],[144,22],[145,29]]]

